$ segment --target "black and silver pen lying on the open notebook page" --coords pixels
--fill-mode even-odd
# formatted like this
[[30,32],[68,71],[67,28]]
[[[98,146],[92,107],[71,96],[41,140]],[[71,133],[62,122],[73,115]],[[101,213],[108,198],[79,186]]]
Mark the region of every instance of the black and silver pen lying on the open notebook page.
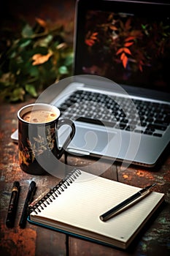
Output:
[[156,184],[152,184],[150,186],[145,187],[144,189],[139,190],[139,192],[136,192],[136,194],[132,195],[131,197],[128,197],[128,199],[124,200],[122,203],[118,204],[117,206],[113,207],[106,213],[102,214],[99,218],[103,222],[106,222],[108,219],[119,214],[120,211],[123,211],[124,209],[126,209],[126,206],[130,206],[131,203],[135,203],[136,199],[140,199],[140,197],[147,195],[150,192],[150,189],[155,185]]

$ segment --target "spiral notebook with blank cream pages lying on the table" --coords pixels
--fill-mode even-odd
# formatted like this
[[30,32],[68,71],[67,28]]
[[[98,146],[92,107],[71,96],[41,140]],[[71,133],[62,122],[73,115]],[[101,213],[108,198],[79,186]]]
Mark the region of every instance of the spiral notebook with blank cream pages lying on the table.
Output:
[[31,207],[28,221],[72,236],[127,248],[163,201],[151,192],[131,208],[102,222],[99,216],[140,188],[73,169]]

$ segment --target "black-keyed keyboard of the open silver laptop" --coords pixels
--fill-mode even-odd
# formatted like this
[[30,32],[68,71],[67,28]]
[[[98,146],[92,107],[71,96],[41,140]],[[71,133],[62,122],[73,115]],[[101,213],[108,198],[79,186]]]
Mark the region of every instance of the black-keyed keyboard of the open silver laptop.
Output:
[[63,118],[161,137],[170,123],[170,105],[74,91],[58,108]]

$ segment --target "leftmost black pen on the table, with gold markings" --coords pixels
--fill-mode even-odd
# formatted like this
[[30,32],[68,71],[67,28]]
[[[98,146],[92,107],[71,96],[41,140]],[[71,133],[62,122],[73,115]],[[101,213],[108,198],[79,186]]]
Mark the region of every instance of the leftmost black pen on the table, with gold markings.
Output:
[[15,222],[15,215],[18,206],[18,198],[20,193],[20,183],[15,181],[12,187],[12,193],[9,201],[9,208],[7,212],[6,225],[7,227],[13,227]]

